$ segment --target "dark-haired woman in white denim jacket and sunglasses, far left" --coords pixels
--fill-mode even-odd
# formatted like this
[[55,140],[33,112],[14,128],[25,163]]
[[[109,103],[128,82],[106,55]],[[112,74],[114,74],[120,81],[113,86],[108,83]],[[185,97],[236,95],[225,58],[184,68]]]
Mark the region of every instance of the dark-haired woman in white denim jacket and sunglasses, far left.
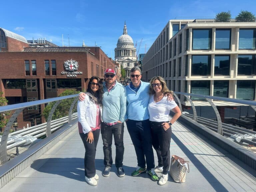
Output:
[[102,115],[103,87],[100,78],[93,76],[88,84],[84,101],[78,101],[78,129],[84,143],[85,181],[89,185],[97,185],[99,176],[95,169],[95,153],[99,140]]

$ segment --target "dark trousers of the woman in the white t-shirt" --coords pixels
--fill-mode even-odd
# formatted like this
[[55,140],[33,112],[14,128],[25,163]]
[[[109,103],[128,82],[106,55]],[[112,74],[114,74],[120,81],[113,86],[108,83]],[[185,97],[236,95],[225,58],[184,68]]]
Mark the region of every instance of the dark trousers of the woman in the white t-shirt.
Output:
[[170,142],[172,128],[170,127],[165,131],[161,125],[162,123],[164,122],[150,121],[152,135],[154,137],[152,144],[154,149],[156,150],[158,166],[163,167],[163,174],[167,174],[171,161]]

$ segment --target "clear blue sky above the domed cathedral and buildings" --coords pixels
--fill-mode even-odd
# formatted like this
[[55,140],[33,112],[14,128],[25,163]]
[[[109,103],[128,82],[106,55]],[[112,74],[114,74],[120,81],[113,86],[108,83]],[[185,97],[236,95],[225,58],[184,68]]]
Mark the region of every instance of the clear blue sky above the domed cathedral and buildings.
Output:
[[[180,3],[181,2],[181,3]],[[246,0],[13,0],[1,2],[0,27],[24,36],[27,40],[46,38],[62,46],[88,46],[101,49],[114,59],[124,21],[128,34],[136,41],[139,53],[145,53],[168,20],[214,18],[231,11],[235,18],[241,10],[256,15],[256,1]]]

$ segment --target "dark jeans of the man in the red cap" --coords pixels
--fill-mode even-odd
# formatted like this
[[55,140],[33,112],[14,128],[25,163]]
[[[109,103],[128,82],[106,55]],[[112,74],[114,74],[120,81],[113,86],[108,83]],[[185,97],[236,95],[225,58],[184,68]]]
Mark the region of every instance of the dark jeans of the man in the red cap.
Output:
[[103,141],[103,152],[104,152],[104,165],[112,166],[112,135],[114,136],[116,146],[116,159],[115,165],[117,168],[123,166],[124,157],[124,124],[118,123],[116,125],[106,125],[101,123],[101,136]]

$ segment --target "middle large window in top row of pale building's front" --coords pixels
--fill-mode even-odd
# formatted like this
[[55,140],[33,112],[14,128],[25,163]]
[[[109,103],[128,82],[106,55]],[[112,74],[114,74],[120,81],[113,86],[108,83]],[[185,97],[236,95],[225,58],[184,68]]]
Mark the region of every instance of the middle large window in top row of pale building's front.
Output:
[[230,49],[231,29],[216,29],[215,49]]

